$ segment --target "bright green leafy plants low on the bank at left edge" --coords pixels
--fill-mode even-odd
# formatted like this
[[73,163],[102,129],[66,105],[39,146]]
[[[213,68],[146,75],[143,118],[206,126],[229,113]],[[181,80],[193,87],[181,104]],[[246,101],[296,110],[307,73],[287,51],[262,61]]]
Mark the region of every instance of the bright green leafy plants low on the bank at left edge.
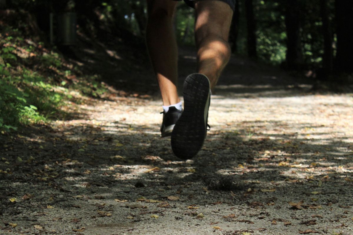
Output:
[[[2,72],[1,72],[2,71]],[[44,78],[24,70],[22,76],[11,76],[0,66],[0,129],[16,129],[20,125],[46,121],[57,113],[62,95]]]

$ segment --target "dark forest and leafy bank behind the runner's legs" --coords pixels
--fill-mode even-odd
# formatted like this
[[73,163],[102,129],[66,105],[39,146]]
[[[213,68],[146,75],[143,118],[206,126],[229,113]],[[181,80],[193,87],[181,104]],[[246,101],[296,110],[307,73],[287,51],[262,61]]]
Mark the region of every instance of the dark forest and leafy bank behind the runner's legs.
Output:
[[[50,13],[67,12],[76,13],[71,46],[61,45],[58,35],[53,42],[49,37]],[[150,67],[146,22],[145,0],[0,0],[0,128],[58,117],[61,100],[77,102],[58,89],[102,97],[108,84],[119,88],[119,95],[131,95],[131,84],[106,78],[134,77]],[[175,32],[181,47],[194,45],[193,25],[193,9],[180,2]],[[326,88],[352,84],[351,0],[239,0],[229,41],[235,55]],[[95,63],[83,59],[87,47],[94,49]]]

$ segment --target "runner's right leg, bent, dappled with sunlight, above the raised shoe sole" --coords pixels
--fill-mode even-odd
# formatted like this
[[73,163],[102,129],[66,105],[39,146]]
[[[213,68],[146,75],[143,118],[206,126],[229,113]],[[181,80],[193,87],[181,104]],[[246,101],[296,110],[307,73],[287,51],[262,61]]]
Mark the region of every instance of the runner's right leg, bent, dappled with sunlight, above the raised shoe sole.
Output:
[[228,36],[233,10],[218,0],[197,1],[195,10],[197,69],[208,77],[213,90],[231,56]]

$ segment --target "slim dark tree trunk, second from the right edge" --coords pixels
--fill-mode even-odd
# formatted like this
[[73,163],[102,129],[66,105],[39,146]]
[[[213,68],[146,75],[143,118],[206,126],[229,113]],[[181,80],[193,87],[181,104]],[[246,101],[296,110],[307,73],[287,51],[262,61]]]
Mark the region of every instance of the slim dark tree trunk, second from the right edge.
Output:
[[333,38],[327,0],[320,0],[320,14],[322,20],[322,33],[324,36],[323,76],[324,78],[327,78],[327,75],[329,75],[333,69]]

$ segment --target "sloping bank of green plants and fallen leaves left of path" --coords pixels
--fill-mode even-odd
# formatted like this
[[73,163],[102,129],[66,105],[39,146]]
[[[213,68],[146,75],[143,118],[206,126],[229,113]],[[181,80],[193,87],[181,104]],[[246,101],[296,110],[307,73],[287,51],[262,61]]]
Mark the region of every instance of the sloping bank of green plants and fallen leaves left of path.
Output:
[[[102,98],[108,86],[85,75],[39,37],[0,22],[0,130],[65,119],[62,107]],[[25,26],[24,26],[25,27]],[[110,89],[110,92],[112,89]],[[108,92],[109,93],[109,92]]]

